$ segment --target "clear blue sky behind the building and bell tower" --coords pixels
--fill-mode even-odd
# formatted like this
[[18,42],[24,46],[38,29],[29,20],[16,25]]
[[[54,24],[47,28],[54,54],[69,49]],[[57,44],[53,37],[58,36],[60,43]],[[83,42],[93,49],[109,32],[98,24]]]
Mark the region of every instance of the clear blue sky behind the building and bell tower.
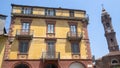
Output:
[[102,4],[112,17],[113,28],[116,31],[118,44],[120,44],[120,0],[1,0],[0,14],[7,15],[6,29],[9,29],[11,3],[31,6],[62,7],[86,10],[89,15],[89,39],[92,55],[100,58],[108,53],[107,41],[101,23]]

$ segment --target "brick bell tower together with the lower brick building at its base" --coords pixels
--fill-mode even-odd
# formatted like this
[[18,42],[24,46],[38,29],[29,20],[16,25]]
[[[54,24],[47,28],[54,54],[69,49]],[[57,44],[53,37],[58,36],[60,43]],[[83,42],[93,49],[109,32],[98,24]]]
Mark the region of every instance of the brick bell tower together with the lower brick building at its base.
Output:
[[96,60],[96,68],[120,68],[120,51],[116,40],[116,32],[113,29],[111,17],[104,8],[102,10],[101,19],[109,53]]

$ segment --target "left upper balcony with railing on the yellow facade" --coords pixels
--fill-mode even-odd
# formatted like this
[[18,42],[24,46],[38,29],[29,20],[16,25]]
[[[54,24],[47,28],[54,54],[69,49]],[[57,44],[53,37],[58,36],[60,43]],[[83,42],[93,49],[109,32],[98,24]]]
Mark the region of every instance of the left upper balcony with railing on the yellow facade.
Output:
[[17,39],[32,39],[33,32],[34,31],[31,29],[17,29],[16,30],[16,38]]

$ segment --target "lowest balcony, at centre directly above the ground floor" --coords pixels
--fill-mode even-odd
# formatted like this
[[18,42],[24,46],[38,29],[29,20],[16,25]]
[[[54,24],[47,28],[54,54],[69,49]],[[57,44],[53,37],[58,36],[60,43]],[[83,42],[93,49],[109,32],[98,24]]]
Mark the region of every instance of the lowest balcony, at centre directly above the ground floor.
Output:
[[42,59],[44,60],[59,60],[60,59],[60,52],[43,52]]

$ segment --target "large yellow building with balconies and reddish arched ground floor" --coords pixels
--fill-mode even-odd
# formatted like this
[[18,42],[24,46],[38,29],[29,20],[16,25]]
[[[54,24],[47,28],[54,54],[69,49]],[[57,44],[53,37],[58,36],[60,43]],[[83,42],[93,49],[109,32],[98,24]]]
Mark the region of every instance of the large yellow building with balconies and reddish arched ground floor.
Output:
[[2,68],[92,68],[86,11],[12,4]]

